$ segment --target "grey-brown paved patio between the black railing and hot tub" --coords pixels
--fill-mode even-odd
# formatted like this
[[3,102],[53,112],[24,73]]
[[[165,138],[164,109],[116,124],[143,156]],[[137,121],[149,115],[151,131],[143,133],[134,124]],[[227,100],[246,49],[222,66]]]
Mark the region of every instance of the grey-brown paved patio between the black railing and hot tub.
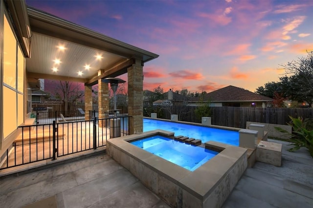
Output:
[[104,153],[0,180],[1,208],[55,205],[58,208],[169,208]]

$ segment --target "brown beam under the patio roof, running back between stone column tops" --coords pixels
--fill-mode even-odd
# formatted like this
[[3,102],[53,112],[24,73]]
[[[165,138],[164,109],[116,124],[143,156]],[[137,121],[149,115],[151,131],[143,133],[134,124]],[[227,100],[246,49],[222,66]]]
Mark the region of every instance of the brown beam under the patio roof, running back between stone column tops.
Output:
[[95,85],[98,83],[99,79],[123,75],[123,74],[127,73],[127,68],[132,66],[134,63],[135,63],[135,59],[131,58],[131,59],[124,61],[123,63],[120,63],[120,64],[113,66],[109,69],[101,69],[104,71],[104,73],[102,73],[99,76],[92,77],[87,82],[85,82],[85,85],[86,86]]

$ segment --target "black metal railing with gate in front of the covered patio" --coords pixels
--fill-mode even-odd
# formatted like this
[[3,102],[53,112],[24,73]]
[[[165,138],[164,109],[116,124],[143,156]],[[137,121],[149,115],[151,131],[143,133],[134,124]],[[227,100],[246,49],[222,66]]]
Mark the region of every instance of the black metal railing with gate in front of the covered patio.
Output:
[[120,115],[21,126],[21,135],[6,151],[0,170],[106,146],[108,138],[129,134],[129,118],[128,115]]

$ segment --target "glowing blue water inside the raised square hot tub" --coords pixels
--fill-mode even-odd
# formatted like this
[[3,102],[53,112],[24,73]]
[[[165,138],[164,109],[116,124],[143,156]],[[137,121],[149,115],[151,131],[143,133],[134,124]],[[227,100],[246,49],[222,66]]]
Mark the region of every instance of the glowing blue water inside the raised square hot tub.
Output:
[[190,171],[196,170],[219,153],[159,135],[137,140],[131,144]]

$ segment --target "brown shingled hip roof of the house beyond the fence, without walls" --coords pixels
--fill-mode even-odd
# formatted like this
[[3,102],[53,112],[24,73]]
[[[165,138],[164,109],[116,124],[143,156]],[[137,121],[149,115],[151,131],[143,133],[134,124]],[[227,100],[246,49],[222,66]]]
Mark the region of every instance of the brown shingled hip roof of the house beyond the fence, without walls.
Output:
[[[273,101],[270,97],[252,93],[248,90],[231,85],[204,95],[203,100],[209,100],[211,102]],[[195,97],[193,101],[199,101],[199,97]]]

